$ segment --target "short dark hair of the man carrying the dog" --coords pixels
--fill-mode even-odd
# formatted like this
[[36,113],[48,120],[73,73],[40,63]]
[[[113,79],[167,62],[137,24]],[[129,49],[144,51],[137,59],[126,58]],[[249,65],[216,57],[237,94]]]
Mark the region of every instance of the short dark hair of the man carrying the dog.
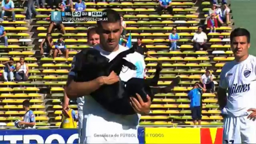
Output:
[[[106,15],[103,15],[102,18],[103,19],[107,19],[107,21],[104,22],[120,22],[121,24],[121,17],[119,15],[119,13],[113,9],[104,9],[102,11],[103,13],[106,13]],[[98,27],[102,27],[102,22],[101,21],[97,21],[97,26]]]

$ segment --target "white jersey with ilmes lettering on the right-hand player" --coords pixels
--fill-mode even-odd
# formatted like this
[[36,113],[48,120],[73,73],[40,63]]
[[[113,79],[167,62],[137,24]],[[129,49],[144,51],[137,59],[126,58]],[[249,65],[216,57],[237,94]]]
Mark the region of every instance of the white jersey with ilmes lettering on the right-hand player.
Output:
[[250,108],[256,108],[256,57],[249,55],[246,60],[235,60],[224,65],[219,87],[228,88],[227,105],[223,114],[247,116]]

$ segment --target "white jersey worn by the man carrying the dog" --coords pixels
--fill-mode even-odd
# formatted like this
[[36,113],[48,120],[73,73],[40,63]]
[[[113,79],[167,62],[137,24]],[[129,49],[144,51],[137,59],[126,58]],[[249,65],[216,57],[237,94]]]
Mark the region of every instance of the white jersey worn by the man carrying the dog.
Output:
[[[107,52],[100,48],[100,45],[94,46],[100,53],[107,57],[109,60],[113,60],[122,51],[128,50],[127,47],[119,45],[119,49],[114,52]],[[146,67],[141,54],[135,52],[128,54],[124,59],[137,66],[137,70],[131,70],[128,67],[123,67],[119,75],[122,81],[128,81],[132,77],[144,78],[144,69]],[[99,103],[97,103],[91,96],[84,97],[83,113],[87,116],[87,120],[82,125],[82,131],[85,129],[86,140],[88,143],[94,141],[95,138],[104,137],[108,139],[110,143],[118,141],[118,143],[139,143],[137,138],[137,126],[140,119],[140,115],[116,115],[110,113],[104,109]],[[82,132],[83,134],[83,132]],[[118,134],[118,137],[114,135]],[[128,134],[127,137],[120,137],[122,134]],[[109,138],[113,135],[113,139]],[[131,137],[133,135],[133,137]],[[90,139],[90,140],[89,140]],[[87,143],[85,140],[85,143]],[[95,140],[97,141],[97,140]],[[94,142],[95,142],[94,141]],[[101,141],[101,143],[104,143]]]

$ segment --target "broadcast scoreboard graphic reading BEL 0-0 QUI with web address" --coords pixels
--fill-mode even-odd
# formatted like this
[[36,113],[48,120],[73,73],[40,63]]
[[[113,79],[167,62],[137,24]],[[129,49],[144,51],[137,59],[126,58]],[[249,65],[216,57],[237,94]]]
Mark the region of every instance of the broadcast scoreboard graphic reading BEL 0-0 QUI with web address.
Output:
[[87,22],[87,21],[107,21],[103,18],[106,12],[51,12],[51,21],[62,22]]

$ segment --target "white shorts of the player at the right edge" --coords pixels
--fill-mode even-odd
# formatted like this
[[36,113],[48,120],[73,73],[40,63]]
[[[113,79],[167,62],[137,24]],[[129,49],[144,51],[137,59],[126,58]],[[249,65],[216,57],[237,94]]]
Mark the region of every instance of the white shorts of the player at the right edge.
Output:
[[247,116],[224,118],[223,144],[256,144],[256,121]]

